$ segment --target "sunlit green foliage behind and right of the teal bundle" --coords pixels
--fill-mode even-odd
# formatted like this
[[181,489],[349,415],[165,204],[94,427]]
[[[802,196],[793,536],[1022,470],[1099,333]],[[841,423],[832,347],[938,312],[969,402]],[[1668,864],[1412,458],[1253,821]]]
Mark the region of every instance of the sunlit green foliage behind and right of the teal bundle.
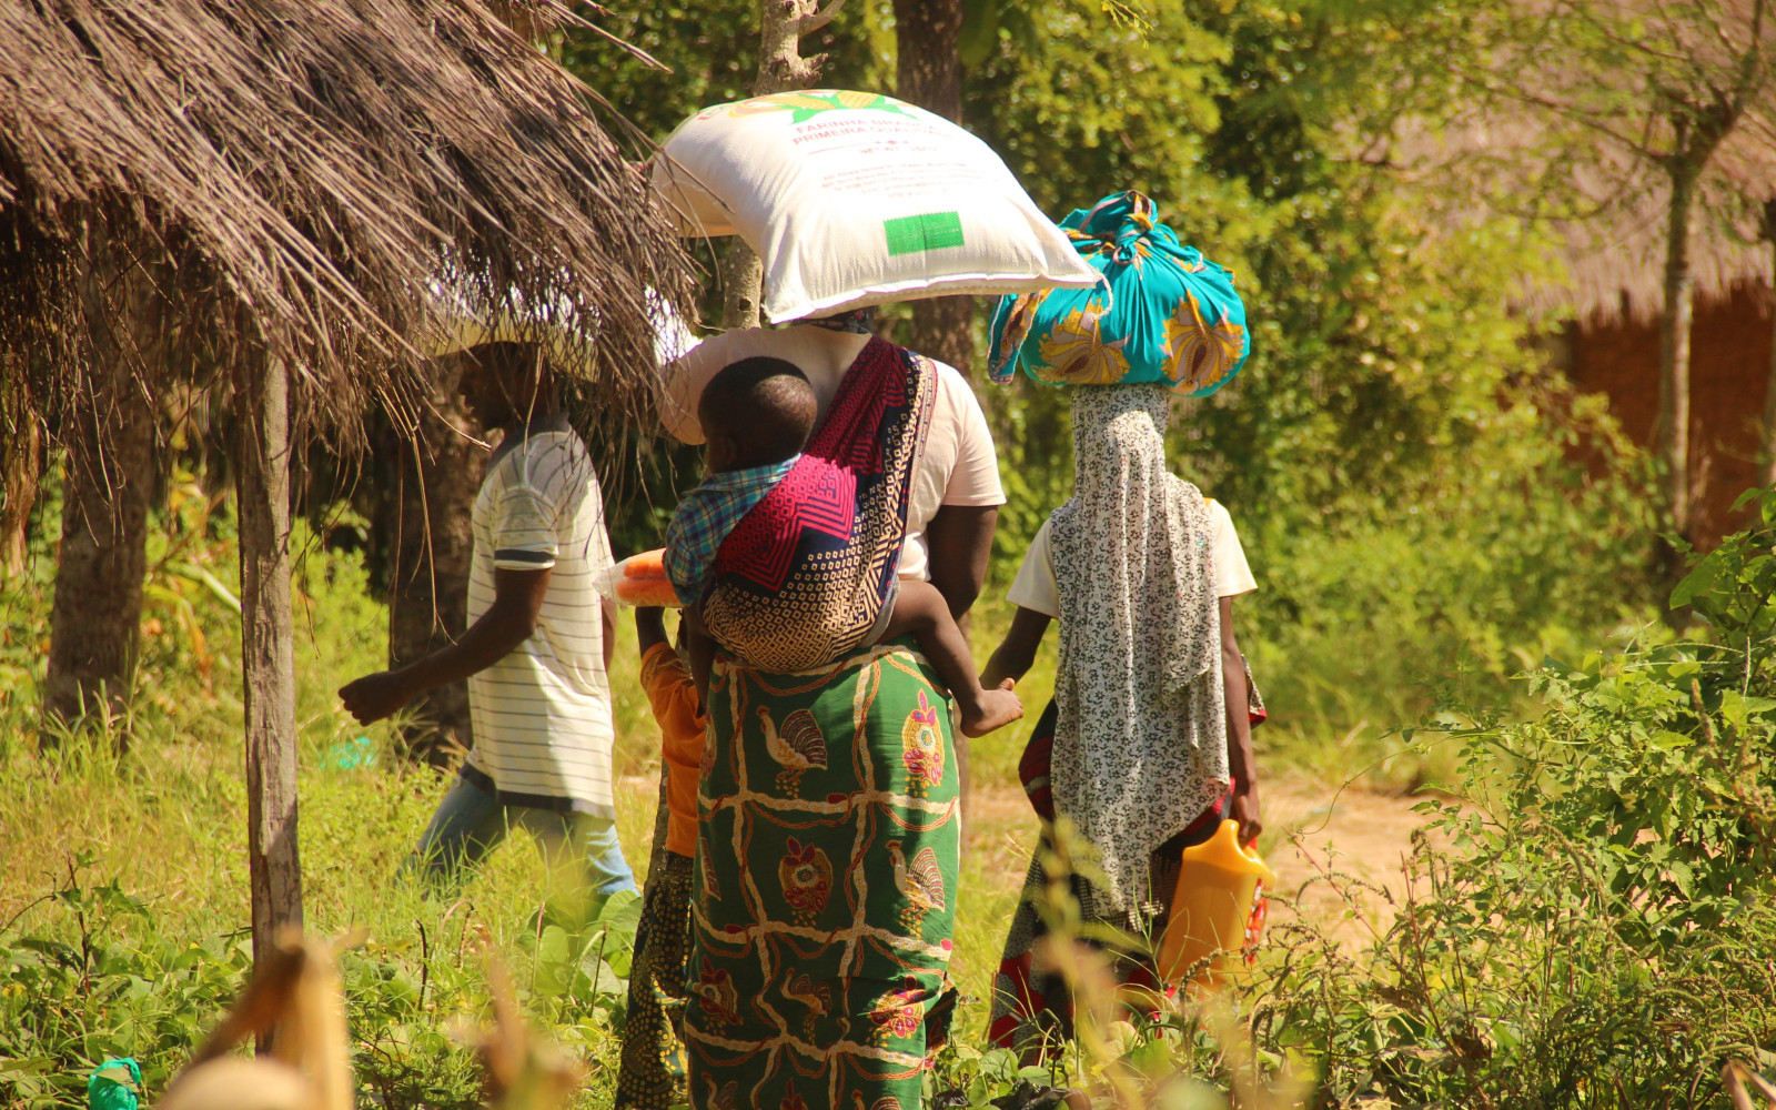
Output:
[[[1510,311],[1542,243],[1439,215],[1465,183],[1352,156],[1352,128],[1442,87],[1419,32],[1462,27],[1394,4],[1149,16],[1147,37],[1067,5],[1002,28],[970,121],[1057,213],[1144,188],[1236,268],[1254,355],[1179,412],[1176,467],[1229,506],[1257,572],[1240,629],[1275,712],[1266,755],[1362,765],[1437,700],[1502,705],[1508,675],[1645,606],[1641,464],[1597,400],[1549,384]],[[1067,396],[986,400],[1009,577],[1071,490]]]

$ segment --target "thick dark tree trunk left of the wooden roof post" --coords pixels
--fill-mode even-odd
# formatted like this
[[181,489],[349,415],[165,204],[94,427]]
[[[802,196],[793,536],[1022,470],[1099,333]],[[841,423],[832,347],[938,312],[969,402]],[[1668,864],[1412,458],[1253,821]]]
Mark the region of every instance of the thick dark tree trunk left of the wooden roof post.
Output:
[[[140,645],[155,408],[135,385],[137,371],[155,359],[158,298],[133,259],[119,268],[108,258],[94,250],[82,279],[92,334],[91,391],[67,421],[46,721],[123,710]],[[128,742],[121,730],[117,742]]]

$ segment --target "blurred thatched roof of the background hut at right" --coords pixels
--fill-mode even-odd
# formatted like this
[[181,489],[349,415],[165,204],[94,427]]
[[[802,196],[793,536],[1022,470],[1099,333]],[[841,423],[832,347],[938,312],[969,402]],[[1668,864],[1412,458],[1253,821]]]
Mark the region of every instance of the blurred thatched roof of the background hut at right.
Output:
[[[1490,213],[1527,217],[1549,233],[1556,265],[1526,258],[1517,307],[1538,318],[1648,321],[1664,298],[1671,192],[1648,158],[1671,146],[1669,124],[1648,117],[1652,78],[1630,60],[1602,78],[1595,69],[1570,66],[1552,43],[1522,34],[1524,25],[1540,27],[1556,9],[1572,18],[1588,7],[1606,23],[1637,14],[1648,27],[1685,41],[1684,57],[1648,46],[1641,64],[1657,57],[1671,69],[1661,80],[1698,94],[1728,80],[1753,34],[1765,52],[1776,52],[1776,14],[1758,23],[1753,0],[1717,0],[1693,12],[1696,23],[1673,20],[1680,0],[1520,0],[1467,28],[1501,44],[1465,76],[1463,103],[1437,105],[1435,121],[1408,114],[1385,133],[1350,139],[1366,160],[1431,185],[1424,190],[1430,208],[1421,215],[1433,226],[1455,227]],[[1623,105],[1620,117],[1606,110],[1611,98]],[[1639,115],[1632,105],[1639,105]],[[1760,242],[1767,201],[1776,201],[1776,80],[1753,94],[1700,183],[1691,233],[1698,298],[1771,286],[1771,247]]]

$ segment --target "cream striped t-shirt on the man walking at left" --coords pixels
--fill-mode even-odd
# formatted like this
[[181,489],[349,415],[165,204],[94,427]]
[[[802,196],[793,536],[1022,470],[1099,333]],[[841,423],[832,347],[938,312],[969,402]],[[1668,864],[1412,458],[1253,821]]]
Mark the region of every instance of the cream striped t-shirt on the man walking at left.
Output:
[[549,572],[536,630],[469,678],[474,748],[464,774],[506,805],[614,815],[611,684],[595,575],[611,565],[586,444],[536,432],[497,453],[474,499],[469,622],[494,604],[494,570]]

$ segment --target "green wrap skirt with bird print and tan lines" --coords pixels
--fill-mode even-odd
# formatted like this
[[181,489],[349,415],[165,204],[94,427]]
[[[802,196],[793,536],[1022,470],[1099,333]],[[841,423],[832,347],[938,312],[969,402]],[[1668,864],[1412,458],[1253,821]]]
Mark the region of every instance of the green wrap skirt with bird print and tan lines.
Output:
[[693,1106],[913,1110],[954,1007],[948,694],[906,645],[718,661],[684,1032]]

